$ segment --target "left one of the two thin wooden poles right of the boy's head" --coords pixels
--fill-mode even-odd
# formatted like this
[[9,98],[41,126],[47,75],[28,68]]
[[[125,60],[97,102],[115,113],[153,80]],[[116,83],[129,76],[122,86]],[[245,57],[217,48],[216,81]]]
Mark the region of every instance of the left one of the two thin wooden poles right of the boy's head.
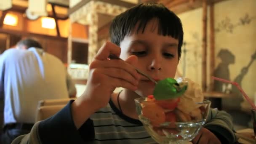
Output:
[[203,0],[203,43],[202,43],[202,89],[206,91],[207,84],[207,2]]

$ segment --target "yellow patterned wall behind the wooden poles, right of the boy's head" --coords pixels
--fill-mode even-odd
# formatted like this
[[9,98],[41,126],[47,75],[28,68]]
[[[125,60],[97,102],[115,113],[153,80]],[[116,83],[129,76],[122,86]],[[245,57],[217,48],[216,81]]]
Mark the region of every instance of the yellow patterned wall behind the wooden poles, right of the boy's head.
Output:
[[[255,10],[256,0],[227,0],[214,6],[216,67],[214,75],[236,81],[252,99],[256,95]],[[179,17],[184,25],[185,42],[179,72],[201,84],[202,8],[181,13]],[[209,79],[208,63],[208,83]],[[223,101],[229,107],[239,107],[243,101],[243,96],[240,95],[237,88],[230,85],[215,83],[214,90],[234,94],[234,99],[224,99]],[[244,106],[247,105],[244,103]]]

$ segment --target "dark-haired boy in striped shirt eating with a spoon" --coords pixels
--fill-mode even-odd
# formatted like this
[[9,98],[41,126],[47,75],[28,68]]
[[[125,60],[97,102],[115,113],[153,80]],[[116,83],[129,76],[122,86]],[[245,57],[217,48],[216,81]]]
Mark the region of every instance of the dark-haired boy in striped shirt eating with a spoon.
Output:
[[[103,45],[90,64],[82,96],[36,123],[30,135],[15,143],[155,143],[138,120],[134,102],[152,95],[155,84],[134,67],[156,81],[174,77],[183,42],[181,21],[163,5],[140,4],[113,20],[110,37],[112,43]],[[109,60],[110,53],[125,61]],[[112,93],[116,87],[124,89]],[[192,143],[221,142],[235,142],[231,118],[211,110],[208,123]]]

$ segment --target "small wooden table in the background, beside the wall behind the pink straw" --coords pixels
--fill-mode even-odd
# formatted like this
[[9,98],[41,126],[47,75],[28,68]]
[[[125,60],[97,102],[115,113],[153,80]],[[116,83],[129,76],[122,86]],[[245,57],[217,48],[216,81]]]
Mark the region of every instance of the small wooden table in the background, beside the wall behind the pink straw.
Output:
[[218,108],[219,110],[222,110],[222,99],[223,98],[229,98],[232,97],[233,94],[227,94],[227,93],[220,93],[217,91],[206,91],[203,92],[203,95],[205,99],[208,99],[212,102],[211,107],[212,108]]

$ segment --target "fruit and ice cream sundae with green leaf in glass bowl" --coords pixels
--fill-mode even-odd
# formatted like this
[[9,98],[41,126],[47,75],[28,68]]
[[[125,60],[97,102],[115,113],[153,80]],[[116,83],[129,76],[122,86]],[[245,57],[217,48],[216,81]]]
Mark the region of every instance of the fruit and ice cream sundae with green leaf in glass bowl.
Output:
[[191,141],[208,115],[210,101],[189,79],[159,81],[154,94],[135,99],[139,120],[158,143]]

